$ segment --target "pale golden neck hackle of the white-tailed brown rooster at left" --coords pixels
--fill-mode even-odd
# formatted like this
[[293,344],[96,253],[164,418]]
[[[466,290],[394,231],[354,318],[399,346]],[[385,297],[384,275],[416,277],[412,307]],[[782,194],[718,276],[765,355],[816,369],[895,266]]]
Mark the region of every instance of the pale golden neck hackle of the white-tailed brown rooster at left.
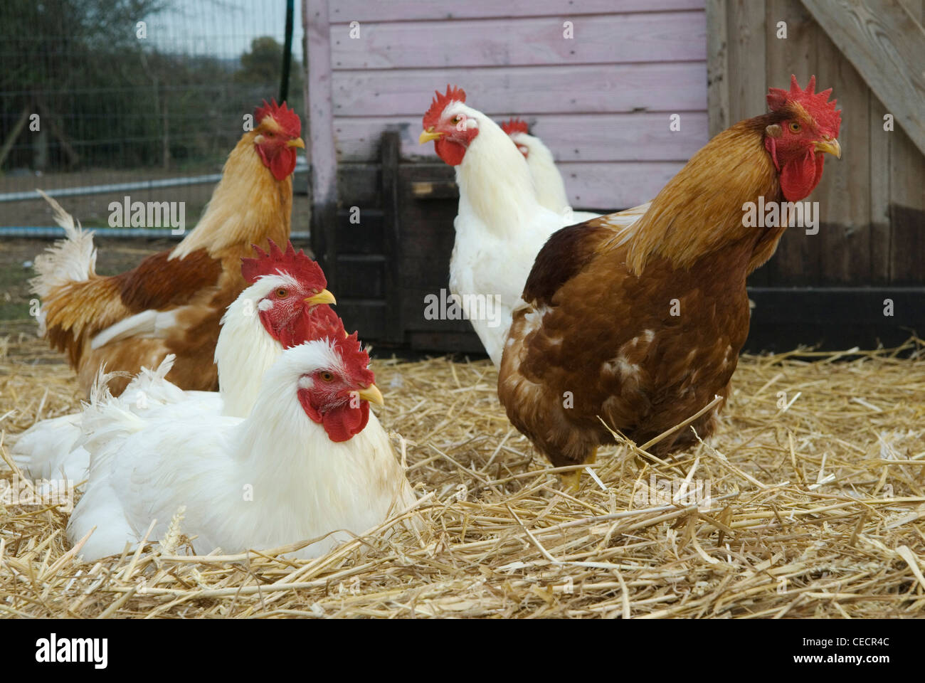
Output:
[[[256,130],[245,133],[228,155],[222,180],[205,207],[196,228],[173,250],[170,258],[183,258],[206,249],[224,258],[228,249],[250,250],[252,243],[277,244],[289,240],[292,212],[292,176],[276,180],[254,147]],[[236,256],[240,256],[237,255]]]

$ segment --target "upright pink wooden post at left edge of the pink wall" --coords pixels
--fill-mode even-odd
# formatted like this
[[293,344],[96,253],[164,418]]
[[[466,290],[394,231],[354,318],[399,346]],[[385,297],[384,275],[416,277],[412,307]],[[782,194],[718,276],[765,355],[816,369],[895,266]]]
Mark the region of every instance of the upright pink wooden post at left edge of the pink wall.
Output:
[[331,44],[327,0],[302,0],[308,42],[305,59],[305,123],[308,128],[308,196],[312,205],[312,250],[337,295],[338,164],[331,102]]

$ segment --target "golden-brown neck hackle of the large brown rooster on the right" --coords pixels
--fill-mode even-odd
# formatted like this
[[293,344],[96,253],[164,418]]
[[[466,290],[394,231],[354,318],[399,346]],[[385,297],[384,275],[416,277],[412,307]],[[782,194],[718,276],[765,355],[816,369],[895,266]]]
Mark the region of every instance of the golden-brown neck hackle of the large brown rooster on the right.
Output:
[[628,240],[621,231],[603,250],[625,242],[626,264],[639,275],[650,257],[689,268],[733,242],[751,235],[759,240],[757,229],[744,225],[743,205],[759,196],[766,202],[781,198],[777,171],[763,143],[765,128],[781,116],[748,118],[723,130],[665,185]]

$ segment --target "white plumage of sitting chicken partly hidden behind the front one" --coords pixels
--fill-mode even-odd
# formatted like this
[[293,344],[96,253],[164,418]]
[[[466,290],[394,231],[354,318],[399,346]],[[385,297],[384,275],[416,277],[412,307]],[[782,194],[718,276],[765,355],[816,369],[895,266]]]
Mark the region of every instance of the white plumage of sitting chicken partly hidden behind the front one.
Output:
[[[247,416],[265,371],[282,353],[261,322],[258,302],[278,288],[297,287],[296,279],[286,273],[266,275],[228,305],[216,343],[219,391],[183,391],[145,368],[117,400],[136,415],[166,409],[166,415],[177,416]],[[90,464],[83,441],[80,413],[74,413],[36,423],[19,435],[11,454],[30,478],[71,479],[76,484],[86,478]]]

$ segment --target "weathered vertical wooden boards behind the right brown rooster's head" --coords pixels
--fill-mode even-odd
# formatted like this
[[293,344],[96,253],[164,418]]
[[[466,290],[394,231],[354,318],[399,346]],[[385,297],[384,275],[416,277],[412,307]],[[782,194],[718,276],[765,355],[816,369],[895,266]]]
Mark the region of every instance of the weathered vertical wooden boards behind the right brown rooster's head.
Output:
[[[925,20],[925,2],[902,0]],[[881,286],[925,283],[925,157],[799,0],[709,0],[710,133],[764,111],[770,86],[833,88],[842,109],[843,157],[827,159],[819,234],[787,230],[752,286]],[[859,11],[864,11],[863,7]],[[775,27],[786,22],[787,37]],[[920,29],[919,29],[920,31]],[[884,35],[884,40],[895,37]],[[921,331],[921,330],[919,330]]]

